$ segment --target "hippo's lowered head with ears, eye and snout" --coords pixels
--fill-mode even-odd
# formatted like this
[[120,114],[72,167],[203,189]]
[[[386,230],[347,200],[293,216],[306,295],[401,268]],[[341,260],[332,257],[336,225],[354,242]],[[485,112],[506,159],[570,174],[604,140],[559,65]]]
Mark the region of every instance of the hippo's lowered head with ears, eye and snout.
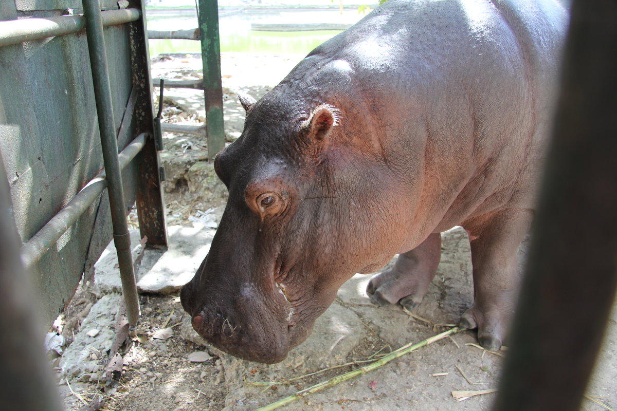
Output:
[[242,100],[244,131],[215,159],[228,203],[181,291],[205,340],[268,363],[309,336],[343,282],[383,266],[400,246],[392,233],[400,210],[381,177],[387,165],[354,143],[361,131],[332,105],[281,100],[276,89]]

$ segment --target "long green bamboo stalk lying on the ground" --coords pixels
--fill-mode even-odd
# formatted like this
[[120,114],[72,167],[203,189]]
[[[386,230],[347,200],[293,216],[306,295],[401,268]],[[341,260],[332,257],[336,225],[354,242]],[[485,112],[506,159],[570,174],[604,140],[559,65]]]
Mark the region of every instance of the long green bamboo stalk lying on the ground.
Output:
[[337,385],[338,383],[341,383],[342,381],[346,381],[346,380],[349,380],[350,378],[354,378],[354,376],[362,375],[372,370],[375,370],[376,368],[383,367],[388,362],[398,357],[404,356],[405,354],[415,351],[416,349],[421,348],[423,346],[427,346],[428,344],[434,343],[435,341],[442,340],[443,338],[447,336],[458,333],[460,330],[461,328],[453,327],[453,328],[450,328],[450,330],[442,332],[441,334],[437,334],[435,336],[427,338],[426,340],[420,341],[420,343],[405,344],[401,348],[395,351],[392,351],[387,356],[382,357],[381,359],[376,360],[375,362],[371,362],[371,364],[365,365],[364,367],[358,368],[357,370],[350,371],[348,373],[337,375],[333,378],[330,378],[329,380],[322,381],[321,383],[315,384],[309,388],[302,389],[298,391],[296,394],[292,394],[291,396],[280,399],[279,401],[273,402],[272,404],[266,405],[265,407],[261,407],[257,409],[257,411],[271,411],[279,407],[283,407],[283,405],[289,404],[290,402],[294,402],[297,399],[300,399],[304,396],[317,393],[318,391],[321,391],[324,388],[332,387],[332,386]]

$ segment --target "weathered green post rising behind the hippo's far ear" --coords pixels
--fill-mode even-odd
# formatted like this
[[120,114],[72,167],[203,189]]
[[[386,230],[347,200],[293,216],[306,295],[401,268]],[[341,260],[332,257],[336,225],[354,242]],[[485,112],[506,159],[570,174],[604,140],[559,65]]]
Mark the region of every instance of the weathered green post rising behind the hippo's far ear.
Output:
[[199,0],[198,17],[201,59],[204,66],[205,131],[208,139],[208,159],[212,161],[217,153],[225,148],[217,0]]

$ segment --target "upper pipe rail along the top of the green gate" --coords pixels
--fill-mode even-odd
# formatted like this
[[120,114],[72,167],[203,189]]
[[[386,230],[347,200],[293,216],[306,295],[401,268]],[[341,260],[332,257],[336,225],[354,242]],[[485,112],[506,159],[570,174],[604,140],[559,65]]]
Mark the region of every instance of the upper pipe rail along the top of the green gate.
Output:
[[[101,13],[102,25],[112,26],[139,20],[138,9],[109,10]],[[53,36],[78,33],[85,27],[82,15],[63,15],[48,18],[22,18],[0,22],[0,47],[20,44]]]

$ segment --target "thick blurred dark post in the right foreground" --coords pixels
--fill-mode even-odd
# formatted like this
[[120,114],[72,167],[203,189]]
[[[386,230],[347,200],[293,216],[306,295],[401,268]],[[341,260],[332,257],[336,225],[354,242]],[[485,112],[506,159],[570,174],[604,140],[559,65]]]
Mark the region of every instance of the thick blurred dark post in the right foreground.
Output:
[[534,238],[494,410],[579,409],[616,287],[617,1],[575,0]]

